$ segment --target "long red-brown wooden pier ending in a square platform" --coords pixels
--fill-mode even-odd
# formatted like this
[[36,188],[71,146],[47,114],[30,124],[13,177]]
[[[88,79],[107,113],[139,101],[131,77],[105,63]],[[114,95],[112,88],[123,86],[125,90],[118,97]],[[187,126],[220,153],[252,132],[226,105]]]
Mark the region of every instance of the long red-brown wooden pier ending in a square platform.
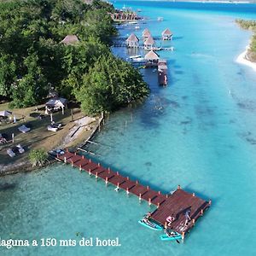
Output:
[[[137,195],[140,202],[147,201],[149,206],[154,205],[157,208],[152,213],[151,218],[166,229],[175,230],[183,238],[195,225],[198,218],[211,206],[211,201],[204,201],[195,196],[194,193],[190,194],[184,191],[180,186],[172,195],[164,195],[160,191],[155,191],[149,186],[131,180],[130,177],[122,176],[119,172],[113,172],[109,167],[105,168],[100,163],[96,164],[77,152],[71,153],[67,150],[65,154],[57,154],[55,158],[66,164],[71,164],[73,167],[78,167],[80,172],[87,172],[96,180],[102,179],[106,185],[112,184],[116,191],[125,190],[127,195]],[[191,221],[186,224],[185,212],[188,209],[191,212]],[[170,215],[174,216],[175,220],[172,225],[168,226],[166,218]]]

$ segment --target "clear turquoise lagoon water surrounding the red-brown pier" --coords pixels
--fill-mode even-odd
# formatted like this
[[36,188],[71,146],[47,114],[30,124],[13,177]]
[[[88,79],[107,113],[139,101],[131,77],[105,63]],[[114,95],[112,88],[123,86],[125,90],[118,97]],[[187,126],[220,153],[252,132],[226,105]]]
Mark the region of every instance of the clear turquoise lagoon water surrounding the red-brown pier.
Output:
[[[180,184],[212,207],[183,244],[137,220],[148,205],[116,193],[86,173],[55,165],[0,180],[1,238],[119,237],[120,247],[0,247],[1,255],[255,255],[256,73],[236,63],[250,32],[236,17],[256,18],[255,5],[116,2],[143,9],[157,37],[169,27],[174,52],[160,52],[169,86],[143,70],[151,95],[113,113],[90,147],[113,170],[170,192]],[[164,21],[157,22],[158,16]],[[120,29],[125,37],[132,26]],[[158,42],[160,44],[160,41]],[[134,55],[113,49],[121,56]]]

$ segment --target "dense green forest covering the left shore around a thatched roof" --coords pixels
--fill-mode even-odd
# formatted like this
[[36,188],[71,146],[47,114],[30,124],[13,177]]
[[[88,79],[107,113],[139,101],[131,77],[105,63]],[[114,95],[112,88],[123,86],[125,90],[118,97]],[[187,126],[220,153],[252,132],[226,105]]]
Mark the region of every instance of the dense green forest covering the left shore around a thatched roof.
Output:
[[[44,102],[54,88],[81,102],[85,113],[98,113],[146,96],[141,75],[109,49],[117,34],[112,11],[99,0],[1,2],[0,100],[26,108]],[[79,42],[60,44],[67,35]]]

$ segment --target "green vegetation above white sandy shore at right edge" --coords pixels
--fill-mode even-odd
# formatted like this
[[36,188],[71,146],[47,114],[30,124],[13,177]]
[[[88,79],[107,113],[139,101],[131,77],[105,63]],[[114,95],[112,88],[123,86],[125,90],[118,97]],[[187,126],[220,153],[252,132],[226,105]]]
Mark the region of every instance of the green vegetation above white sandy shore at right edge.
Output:
[[247,50],[247,59],[256,62],[256,20],[236,20],[236,23],[243,29],[248,29],[253,32],[251,44]]

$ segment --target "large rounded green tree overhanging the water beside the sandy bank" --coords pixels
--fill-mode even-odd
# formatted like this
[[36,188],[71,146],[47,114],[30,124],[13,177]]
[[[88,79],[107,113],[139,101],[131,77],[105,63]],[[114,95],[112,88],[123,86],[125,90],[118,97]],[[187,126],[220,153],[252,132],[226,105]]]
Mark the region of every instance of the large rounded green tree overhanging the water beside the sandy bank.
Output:
[[138,71],[113,55],[103,55],[84,74],[76,98],[84,113],[111,112],[148,96],[148,87]]

